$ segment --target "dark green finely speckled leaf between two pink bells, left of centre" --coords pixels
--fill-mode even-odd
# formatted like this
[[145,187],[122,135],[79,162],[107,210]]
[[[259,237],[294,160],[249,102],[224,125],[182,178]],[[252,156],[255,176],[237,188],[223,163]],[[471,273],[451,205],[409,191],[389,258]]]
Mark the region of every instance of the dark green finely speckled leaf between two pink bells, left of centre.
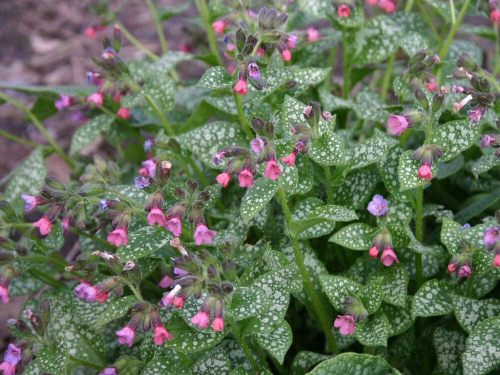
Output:
[[118,246],[116,256],[121,261],[138,259],[165,246],[171,234],[166,230],[156,230],[154,226],[143,226],[128,234],[128,243]]

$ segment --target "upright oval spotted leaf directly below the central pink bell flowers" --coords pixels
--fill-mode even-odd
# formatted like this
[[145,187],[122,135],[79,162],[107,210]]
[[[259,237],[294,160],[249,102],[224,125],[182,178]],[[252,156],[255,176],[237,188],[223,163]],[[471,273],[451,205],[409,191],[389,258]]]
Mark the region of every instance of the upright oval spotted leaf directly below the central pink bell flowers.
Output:
[[272,199],[278,189],[279,181],[269,178],[258,177],[253,182],[253,186],[246,190],[239,213],[246,223],[260,212],[269,200]]

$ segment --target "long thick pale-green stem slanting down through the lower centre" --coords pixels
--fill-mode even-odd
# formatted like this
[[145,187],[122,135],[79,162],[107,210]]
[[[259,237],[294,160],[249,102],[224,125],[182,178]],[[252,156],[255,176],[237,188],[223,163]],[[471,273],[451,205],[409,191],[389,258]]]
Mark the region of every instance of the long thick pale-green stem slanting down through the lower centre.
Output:
[[[277,196],[279,198],[279,202],[281,203],[281,207],[283,208],[286,225],[289,229],[291,223],[290,209],[288,208],[288,202],[286,201],[286,197],[283,193],[283,190],[281,190],[281,187],[278,187]],[[314,309],[316,317],[321,324],[326,340],[330,345],[330,350],[333,352],[333,354],[339,354],[340,350],[338,350],[335,337],[333,337],[333,333],[331,332],[331,323],[328,321],[327,315],[323,310],[321,303],[319,302],[319,297],[317,296],[314,286],[312,286],[312,282],[309,278],[309,275],[307,274],[304,260],[302,259],[300,248],[298,247],[298,240],[295,236],[290,234],[290,242],[293,248],[293,254],[295,256],[295,262],[297,263],[298,270],[304,282],[305,291],[310,301],[312,302],[312,308]]]

